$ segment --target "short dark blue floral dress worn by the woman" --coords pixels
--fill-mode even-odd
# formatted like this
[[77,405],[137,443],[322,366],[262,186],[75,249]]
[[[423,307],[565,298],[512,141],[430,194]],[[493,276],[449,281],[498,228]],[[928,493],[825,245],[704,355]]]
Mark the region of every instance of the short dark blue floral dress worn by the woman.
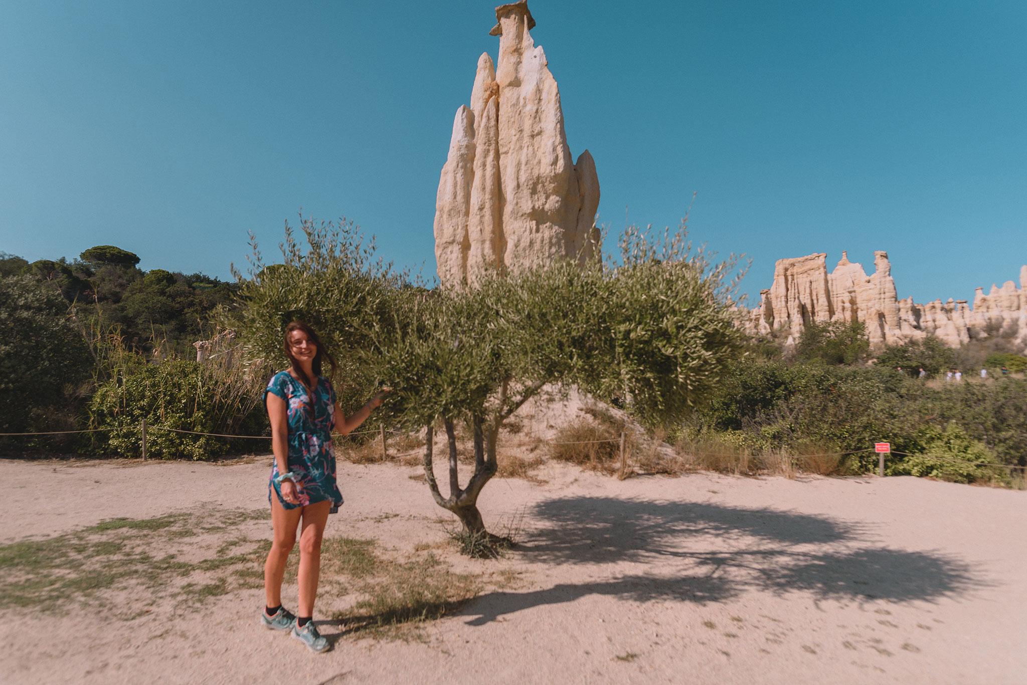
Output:
[[271,466],[271,481],[267,498],[273,492],[278,503],[295,509],[326,499],[332,500],[332,511],[342,504],[342,493],[335,482],[335,450],[332,447],[332,427],[335,425],[335,390],[327,378],[317,378],[313,401],[306,386],[293,378],[288,371],[279,371],[271,378],[264,391],[272,392],[286,401],[289,417],[289,470],[296,474],[298,504],[281,498],[281,486],[274,482],[278,477],[278,460]]

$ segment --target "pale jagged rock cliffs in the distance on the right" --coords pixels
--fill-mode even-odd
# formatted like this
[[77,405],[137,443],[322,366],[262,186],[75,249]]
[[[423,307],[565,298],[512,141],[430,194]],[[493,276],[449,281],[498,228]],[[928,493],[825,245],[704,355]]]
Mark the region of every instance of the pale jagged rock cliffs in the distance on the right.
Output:
[[1020,289],[1012,280],[978,288],[974,306],[966,300],[914,304],[900,300],[885,252],[874,253],[874,273],[841,261],[828,273],[827,255],[782,259],[774,265],[773,284],[760,291],[760,306],[750,312],[753,333],[788,331],[797,337],[809,321],[863,321],[872,344],[898,344],[935,335],[958,347],[971,340],[1009,338],[1027,349],[1027,266],[1020,269]]

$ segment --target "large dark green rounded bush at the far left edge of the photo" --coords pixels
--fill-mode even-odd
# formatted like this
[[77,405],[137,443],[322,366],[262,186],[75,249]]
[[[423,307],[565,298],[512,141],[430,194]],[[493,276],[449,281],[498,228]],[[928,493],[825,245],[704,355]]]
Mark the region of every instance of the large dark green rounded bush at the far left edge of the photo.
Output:
[[0,432],[74,427],[67,423],[74,422],[75,395],[90,367],[56,290],[31,276],[0,278]]

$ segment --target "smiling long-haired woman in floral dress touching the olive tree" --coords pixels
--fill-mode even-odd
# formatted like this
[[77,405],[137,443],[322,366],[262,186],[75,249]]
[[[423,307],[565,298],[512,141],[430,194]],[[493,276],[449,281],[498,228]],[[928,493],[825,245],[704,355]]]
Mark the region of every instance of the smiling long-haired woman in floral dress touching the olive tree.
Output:
[[[328,640],[317,633],[310,619],[317,594],[325,524],[328,515],[342,504],[342,494],[335,482],[332,429],[343,435],[355,429],[372,410],[381,406],[389,389],[383,389],[359,411],[346,417],[336,407],[331,381],[321,376],[325,359],[331,365],[331,377],[335,376],[335,359],[309,326],[293,321],[286,327],[286,354],[289,371],[275,374],[264,392],[274,451],[268,486],[274,540],[264,565],[267,606],[261,612],[261,623],[276,631],[292,631],[293,637],[311,651],[322,652],[329,648]],[[301,522],[299,615],[294,616],[281,606],[281,579]]]

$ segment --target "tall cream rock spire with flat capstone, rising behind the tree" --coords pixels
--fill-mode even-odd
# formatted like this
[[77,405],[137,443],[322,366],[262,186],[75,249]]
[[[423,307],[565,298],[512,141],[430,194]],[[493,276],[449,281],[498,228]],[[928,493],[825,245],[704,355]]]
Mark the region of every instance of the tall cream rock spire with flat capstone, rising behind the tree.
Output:
[[527,0],[496,7],[498,68],[478,60],[470,107],[453,121],[435,198],[435,260],[443,286],[598,250],[596,163],[572,162],[557,81],[532,40]]

